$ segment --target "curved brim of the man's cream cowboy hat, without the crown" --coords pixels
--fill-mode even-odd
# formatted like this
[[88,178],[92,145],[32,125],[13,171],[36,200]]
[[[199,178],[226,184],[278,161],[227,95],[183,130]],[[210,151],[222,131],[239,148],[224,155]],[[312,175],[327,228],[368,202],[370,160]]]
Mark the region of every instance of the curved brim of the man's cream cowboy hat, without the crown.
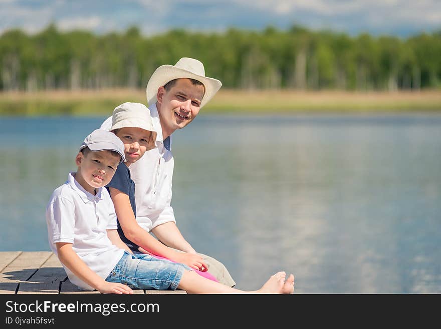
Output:
[[148,105],[156,103],[156,95],[159,87],[164,86],[171,80],[180,78],[194,79],[203,84],[205,87],[205,93],[203,94],[200,102],[201,108],[208,103],[208,101],[217,93],[220,87],[222,87],[222,82],[217,79],[200,76],[190,71],[176,68],[173,65],[161,65],[155,70],[155,72],[153,72],[150,80],[147,83],[146,95]]

